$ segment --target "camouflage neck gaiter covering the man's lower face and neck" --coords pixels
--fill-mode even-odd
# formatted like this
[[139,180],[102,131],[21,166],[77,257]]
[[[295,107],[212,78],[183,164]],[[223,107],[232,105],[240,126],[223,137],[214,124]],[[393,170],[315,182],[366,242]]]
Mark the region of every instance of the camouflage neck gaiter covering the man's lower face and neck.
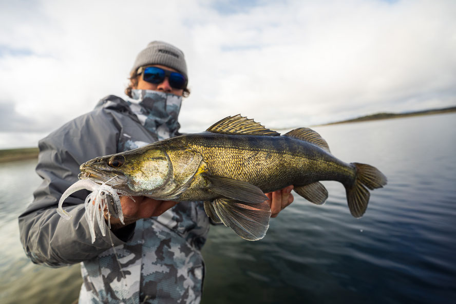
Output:
[[159,140],[176,136],[182,97],[153,90],[131,90],[130,109],[141,124],[157,134]]

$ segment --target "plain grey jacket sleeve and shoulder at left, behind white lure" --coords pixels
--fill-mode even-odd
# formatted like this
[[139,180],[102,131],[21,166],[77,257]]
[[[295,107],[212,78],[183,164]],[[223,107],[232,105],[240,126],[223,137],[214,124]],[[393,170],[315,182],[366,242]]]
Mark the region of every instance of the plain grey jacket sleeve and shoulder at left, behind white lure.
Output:
[[[43,182],[19,217],[21,242],[34,263],[60,267],[91,259],[111,247],[109,238],[97,237],[91,243],[84,217],[87,191],[76,192],[65,200],[63,206],[72,215],[70,220],[61,218],[56,208],[63,192],[78,180],[81,163],[116,153],[119,129],[115,120],[109,110],[98,109],[70,121],[39,142],[36,172]],[[120,238],[111,233],[114,245],[123,244],[134,228],[134,224],[125,227],[118,234],[122,235]]]

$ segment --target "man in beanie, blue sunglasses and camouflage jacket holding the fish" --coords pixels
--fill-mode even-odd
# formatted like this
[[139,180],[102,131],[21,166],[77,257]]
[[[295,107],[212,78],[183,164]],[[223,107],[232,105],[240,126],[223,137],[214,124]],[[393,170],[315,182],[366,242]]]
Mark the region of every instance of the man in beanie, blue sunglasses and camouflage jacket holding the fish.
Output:
[[[39,143],[36,172],[43,183],[19,217],[21,241],[34,263],[61,267],[81,262],[80,303],[201,299],[200,250],[209,224],[201,202],[122,197],[125,225],[111,217],[108,235],[97,235],[94,243],[84,217],[87,191],[65,201],[71,220],[55,212],[62,193],[78,180],[81,163],[179,135],[177,118],[182,97],[189,93],[187,83],[183,52],[151,42],[131,70],[128,99],[105,97],[93,111]],[[267,194],[273,217],[293,201],[291,188]]]

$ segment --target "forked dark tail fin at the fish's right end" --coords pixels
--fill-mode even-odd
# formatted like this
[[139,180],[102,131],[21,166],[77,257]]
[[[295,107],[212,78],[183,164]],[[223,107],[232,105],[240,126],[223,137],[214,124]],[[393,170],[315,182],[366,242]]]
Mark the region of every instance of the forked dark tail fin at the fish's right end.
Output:
[[387,183],[386,176],[377,168],[360,163],[352,163],[356,167],[356,179],[351,186],[346,186],[348,207],[354,217],[362,217],[369,203],[370,193],[366,187],[373,190],[382,188]]

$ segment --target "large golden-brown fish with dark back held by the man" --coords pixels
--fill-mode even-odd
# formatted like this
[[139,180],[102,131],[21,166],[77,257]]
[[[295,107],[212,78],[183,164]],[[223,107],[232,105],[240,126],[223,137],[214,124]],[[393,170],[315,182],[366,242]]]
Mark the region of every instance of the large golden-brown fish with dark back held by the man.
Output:
[[103,183],[132,196],[177,202],[203,201],[208,217],[246,240],[262,239],[269,228],[269,193],[293,185],[314,204],[328,191],[321,181],[345,186],[350,213],[366,212],[369,190],[387,184],[377,168],[346,163],[310,128],[280,135],[241,115],[207,130],[164,139],[80,166],[80,179]]

